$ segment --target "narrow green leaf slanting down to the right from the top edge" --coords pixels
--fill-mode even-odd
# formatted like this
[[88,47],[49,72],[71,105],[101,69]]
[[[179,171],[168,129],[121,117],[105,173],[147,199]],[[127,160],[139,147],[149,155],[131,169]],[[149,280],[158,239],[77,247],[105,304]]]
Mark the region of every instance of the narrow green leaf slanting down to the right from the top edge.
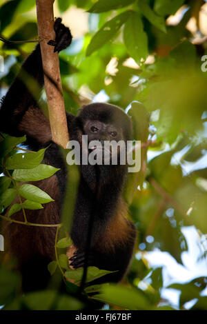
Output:
[[144,14],[146,19],[152,23],[155,27],[159,28],[162,32],[166,32],[166,21],[164,17],[158,16],[148,5],[147,0],[139,0],[138,2],[139,9],[141,13]]

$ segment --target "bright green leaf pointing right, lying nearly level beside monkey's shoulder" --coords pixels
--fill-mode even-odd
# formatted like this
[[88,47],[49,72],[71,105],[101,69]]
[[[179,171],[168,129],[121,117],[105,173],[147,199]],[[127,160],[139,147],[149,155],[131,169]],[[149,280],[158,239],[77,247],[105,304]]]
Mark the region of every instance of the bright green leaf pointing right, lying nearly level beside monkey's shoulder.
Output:
[[51,165],[40,164],[33,169],[17,169],[14,170],[12,177],[17,181],[39,181],[49,178],[59,169],[52,167]]

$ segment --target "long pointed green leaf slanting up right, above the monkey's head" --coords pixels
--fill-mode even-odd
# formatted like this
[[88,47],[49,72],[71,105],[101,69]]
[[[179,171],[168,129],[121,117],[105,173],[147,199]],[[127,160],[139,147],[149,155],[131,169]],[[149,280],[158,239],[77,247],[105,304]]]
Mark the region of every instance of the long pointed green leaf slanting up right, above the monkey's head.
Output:
[[107,21],[107,23],[104,23],[101,29],[92,37],[86,51],[86,56],[92,54],[92,52],[95,52],[95,50],[98,50],[98,48],[101,48],[101,46],[110,41],[117,34],[123,23],[130,17],[130,14],[132,14],[132,11],[123,12],[110,21]]

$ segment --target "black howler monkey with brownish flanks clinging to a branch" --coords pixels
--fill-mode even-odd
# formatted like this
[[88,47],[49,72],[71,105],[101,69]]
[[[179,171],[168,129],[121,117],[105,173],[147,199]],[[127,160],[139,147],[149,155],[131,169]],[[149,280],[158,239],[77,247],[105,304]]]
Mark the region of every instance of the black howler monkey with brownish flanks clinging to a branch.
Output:
[[[55,41],[48,44],[60,51],[70,45],[72,36],[61,19],[55,21]],[[34,99],[28,85],[21,78],[21,71],[34,78],[43,87],[43,68],[39,44],[23,63],[19,74],[3,99],[0,110],[0,131],[11,136],[26,134],[26,144],[31,150],[46,150],[43,163],[60,168],[50,178],[35,182],[48,192],[55,201],[44,205],[42,210],[27,210],[28,221],[54,224],[60,221],[61,205],[66,190],[66,166],[59,147],[52,142],[50,123]],[[29,81],[30,82],[30,81]],[[40,95],[40,93],[39,93]],[[107,103],[92,103],[83,106],[77,117],[67,113],[70,140],[81,145],[81,136],[99,141],[131,139],[128,116],[117,106]],[[126,165],[80,165],[80,181],[70,235],[77,252],[70,265],[83,267],[90,214],[96,200],[97,210],[91,228],[88,265],[104,270],[118,270],[101,277],[99,282],[117,282],[124,276],[132,257],[135,243],[135,226],[126,216],[126,203],[122,189],[126,178]],[[70,174],[69,174],[70,181]],[[97,188],[98,183],[98,188]],[[23,220],[22,212],[12,217]],[[23,289],[35,290],[46,285],[47,265],[54,259],[56,229],[54,227],[23,226],[6,223],[6,241],[9,251],[17,257],[23,275]]]

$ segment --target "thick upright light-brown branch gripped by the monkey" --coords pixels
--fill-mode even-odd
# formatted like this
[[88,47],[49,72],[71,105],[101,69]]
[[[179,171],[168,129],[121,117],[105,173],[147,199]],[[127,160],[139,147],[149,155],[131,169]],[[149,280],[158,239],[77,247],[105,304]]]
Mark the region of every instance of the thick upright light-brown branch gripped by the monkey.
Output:
[[59,71],[59,58],[57,52],[53,52],[54,48],[48,45],[50,39],[55,39],[53,3],[54,0],[36,1],[37,25],[52,141],[66,148],[69,138]]

